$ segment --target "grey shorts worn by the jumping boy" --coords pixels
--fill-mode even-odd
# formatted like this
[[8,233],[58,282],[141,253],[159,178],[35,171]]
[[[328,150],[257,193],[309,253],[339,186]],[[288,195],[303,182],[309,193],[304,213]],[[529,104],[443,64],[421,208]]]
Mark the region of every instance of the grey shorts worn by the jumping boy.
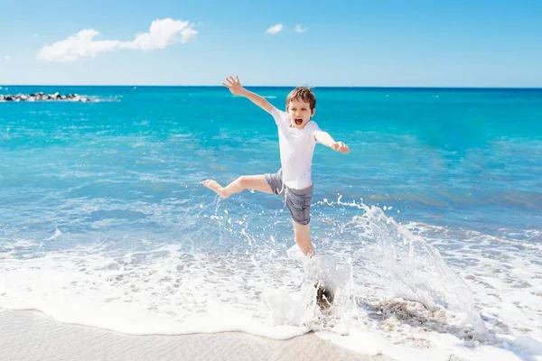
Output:
[[311,221],[313,186],[304,190],[293,190],[286,187],[282,180],[282,170],[276,173],[266,173],[265,176],[273,193],[285,198],[286,207],[290,209],[294,221],[300,225],[308,225]]

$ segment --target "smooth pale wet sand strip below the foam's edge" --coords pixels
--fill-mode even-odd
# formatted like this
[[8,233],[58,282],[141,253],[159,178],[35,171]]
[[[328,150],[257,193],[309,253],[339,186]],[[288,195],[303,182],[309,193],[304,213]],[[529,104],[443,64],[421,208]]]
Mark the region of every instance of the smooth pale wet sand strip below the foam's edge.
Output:
[[313,334],[285,341],[240,332],[132,336],[64,324],[42,312],[0,310],[1,360],[391,360]]

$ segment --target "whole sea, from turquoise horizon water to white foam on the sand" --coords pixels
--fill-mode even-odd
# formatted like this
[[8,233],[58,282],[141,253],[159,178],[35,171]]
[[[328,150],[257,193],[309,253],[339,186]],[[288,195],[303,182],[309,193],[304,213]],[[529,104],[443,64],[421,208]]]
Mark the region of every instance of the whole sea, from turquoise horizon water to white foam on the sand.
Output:
[[[292,89],[248,87],[285,109]],[[0,308],[126,334],[315,333],[397,360],[542,359],[542,89],[313,88],[311,233],[202,180],[280,169],[220,87],[2,86]],[[314,282],[332,287],[328,310]]]

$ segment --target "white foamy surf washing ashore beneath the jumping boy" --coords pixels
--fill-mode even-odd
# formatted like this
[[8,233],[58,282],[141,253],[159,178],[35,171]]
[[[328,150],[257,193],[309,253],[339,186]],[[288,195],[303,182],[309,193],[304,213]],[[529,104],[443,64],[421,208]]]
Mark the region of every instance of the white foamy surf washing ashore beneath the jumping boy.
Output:
[[[323,223],[312,260],[218,203],[209,222],[243,246],[126,252],[96,245],[26,257],[17,250],[31,250],[32,240],[2,239],[0,307],[129,334],[239,330],[284,339],[313,330],[343,347],[397,359],[536,359],[536,252],[506,242],[483,248],[494,240],[480,234],[403,227],[356,202],[325,200],[320,207],[344,205],[360,216]],[[329,314],[314,305],[311,277],[337,290]]]

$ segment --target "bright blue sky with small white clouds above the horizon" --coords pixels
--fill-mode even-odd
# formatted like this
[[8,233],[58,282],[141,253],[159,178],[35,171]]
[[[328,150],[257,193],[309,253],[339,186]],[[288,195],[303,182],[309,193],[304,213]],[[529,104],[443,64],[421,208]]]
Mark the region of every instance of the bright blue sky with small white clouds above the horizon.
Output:
[[542,0],[0,0],[0,84],[542,88]]

